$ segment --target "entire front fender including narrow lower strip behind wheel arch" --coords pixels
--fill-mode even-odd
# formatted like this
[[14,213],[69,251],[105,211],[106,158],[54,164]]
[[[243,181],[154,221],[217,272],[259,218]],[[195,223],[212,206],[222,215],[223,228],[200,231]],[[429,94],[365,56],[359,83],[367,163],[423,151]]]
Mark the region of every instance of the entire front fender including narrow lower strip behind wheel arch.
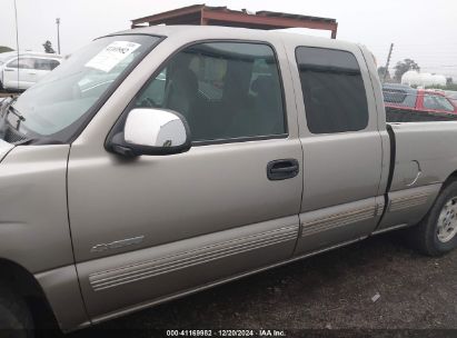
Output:
[[0,258],[34,276],[64,330],[88,324],[68,221],[69,150],[0,141]]

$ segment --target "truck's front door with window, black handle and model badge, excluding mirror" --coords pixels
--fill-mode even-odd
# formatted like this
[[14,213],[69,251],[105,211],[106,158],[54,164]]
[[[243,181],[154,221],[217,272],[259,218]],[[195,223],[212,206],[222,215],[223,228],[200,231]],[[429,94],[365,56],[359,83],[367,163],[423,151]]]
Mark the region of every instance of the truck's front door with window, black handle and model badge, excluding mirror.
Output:
[[[151,60],[130,77],[151,72]],[[157,69],[125,110],[180,112],[190,151],[129,160],[103,148],[112,126],[72,145],[70,222],[92,318],[291,257],[302,152],[282,80],[291,93],[269,44],[197,43]]]

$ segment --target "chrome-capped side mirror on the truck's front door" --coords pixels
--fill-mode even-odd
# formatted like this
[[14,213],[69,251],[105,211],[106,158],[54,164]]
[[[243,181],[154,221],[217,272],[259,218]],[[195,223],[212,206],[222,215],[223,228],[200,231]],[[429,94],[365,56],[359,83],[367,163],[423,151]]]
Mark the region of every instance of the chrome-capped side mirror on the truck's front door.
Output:
[[132,109],[123,130],[108,143],[110,151],[125,157],[180,153],[190,147],[186,119],[176,111],[156,108]]

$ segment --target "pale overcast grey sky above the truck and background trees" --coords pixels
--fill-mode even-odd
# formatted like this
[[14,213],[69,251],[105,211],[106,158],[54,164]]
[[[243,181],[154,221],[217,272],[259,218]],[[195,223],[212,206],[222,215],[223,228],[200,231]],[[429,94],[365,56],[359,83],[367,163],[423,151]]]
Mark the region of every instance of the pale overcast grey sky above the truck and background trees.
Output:
[[[42,51],[50,40],[57,49],[56,18],[60,18],[61,52],[70,53],[92,39],[130,28],[130,20],[195,3],[196,0],[16,0],[19,49]],[[0,0],[0,46],[16,49],[14,0]],[[269,10],[335,18],[337,39],[367,46],[378,64],[386,63],[394,43],[390,68],[414,59],[425,72],[457,80],[456,0],[206,0],[249,11]],[[327,31],[304,30],[329,37]]]

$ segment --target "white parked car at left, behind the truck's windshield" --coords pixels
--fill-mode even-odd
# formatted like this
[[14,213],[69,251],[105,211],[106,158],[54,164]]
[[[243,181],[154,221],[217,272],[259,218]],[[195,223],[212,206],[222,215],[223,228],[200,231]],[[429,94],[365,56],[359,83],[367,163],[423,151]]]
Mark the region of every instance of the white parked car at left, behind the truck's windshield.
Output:
[[49,53],[0,54],[0,89],[26,90],[60,64],[62,57]]

